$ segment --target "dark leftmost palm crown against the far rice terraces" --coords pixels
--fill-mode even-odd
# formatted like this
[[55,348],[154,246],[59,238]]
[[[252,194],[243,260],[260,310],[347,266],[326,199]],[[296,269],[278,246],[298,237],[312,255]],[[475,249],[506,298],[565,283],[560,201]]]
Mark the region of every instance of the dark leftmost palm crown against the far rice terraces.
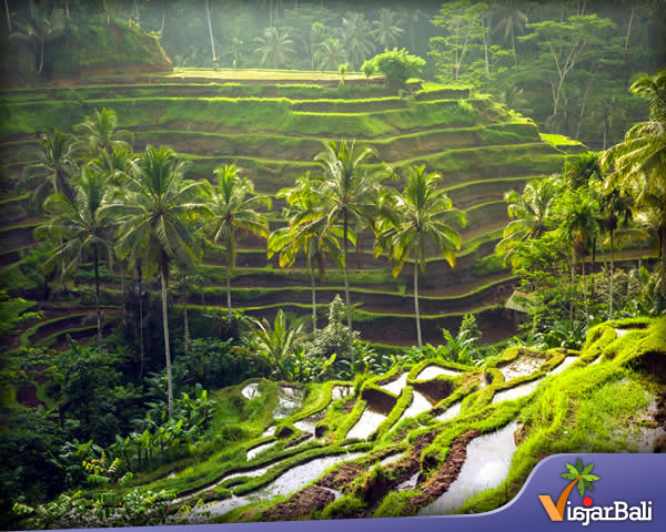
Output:
[[22,157],[27,164],[19,181],[19,188],[29,190],[30,198],[41,207],[53,193],[71,197],[70,178],[77,168],[77,149],[73,136],[59,130],[42,134],[39,145],[28,150]]

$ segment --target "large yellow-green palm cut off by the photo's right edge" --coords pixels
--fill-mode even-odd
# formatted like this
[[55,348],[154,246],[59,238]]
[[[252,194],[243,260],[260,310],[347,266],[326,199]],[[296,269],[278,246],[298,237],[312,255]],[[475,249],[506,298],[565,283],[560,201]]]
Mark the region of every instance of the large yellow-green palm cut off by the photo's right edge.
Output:
[[[606,150],[604,170],[613,167],[606,190],[620,187],[635,196],[635,208],[655,208],[666,218],[666,70],[636,81],[630,91],[647,99],[649,120],[634,124],[624,142]],[[666,297],[666,225],[659,233],[662,296]]]

